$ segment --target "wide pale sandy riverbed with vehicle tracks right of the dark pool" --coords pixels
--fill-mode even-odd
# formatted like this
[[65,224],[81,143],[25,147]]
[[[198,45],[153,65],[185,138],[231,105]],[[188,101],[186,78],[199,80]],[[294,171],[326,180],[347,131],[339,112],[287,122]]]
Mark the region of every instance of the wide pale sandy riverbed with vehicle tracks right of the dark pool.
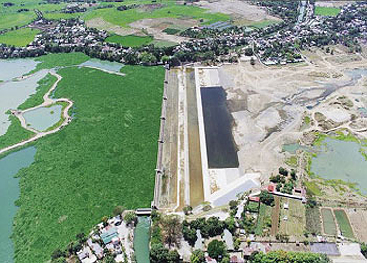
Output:
[[[219,68],[219,84],[226,90],[234,119],[232,133],[241,175],[259,172],[266,181],[291,156],[283,151],[283,145],[306,141],[304,135],[311,131],[347,128],[367,138],[363,131],[366,120],[357,110],[367,106],[363,96],[366,77],[351,81],[347,74],[354,68],[366,68],[367,61],[361,56],[356,60],[339,46],[331,49],[334,55],[320,49],[306,51],[306,62],[300,64],[263,66],[256,62],[252,66],[240,62]],[[346,59],[336,63],[340,57]],[[353,105],[346,107],[340,98],[353,101]],[[314,120],[316,113],[326,119]],[[304,125],[304,116],[312,117],[310,124]]]

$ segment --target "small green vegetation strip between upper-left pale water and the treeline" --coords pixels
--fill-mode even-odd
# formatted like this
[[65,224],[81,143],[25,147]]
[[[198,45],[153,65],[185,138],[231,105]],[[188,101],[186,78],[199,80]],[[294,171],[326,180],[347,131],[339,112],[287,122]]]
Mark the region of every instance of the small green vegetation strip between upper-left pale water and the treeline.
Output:
[[90,58],[87,55],[81,52],[50,53],[36,58],[35,61],[39,61],[41,63],[37,64],[36,68],[28,74],[32,74],[42,69],[79,65],[89,59]]

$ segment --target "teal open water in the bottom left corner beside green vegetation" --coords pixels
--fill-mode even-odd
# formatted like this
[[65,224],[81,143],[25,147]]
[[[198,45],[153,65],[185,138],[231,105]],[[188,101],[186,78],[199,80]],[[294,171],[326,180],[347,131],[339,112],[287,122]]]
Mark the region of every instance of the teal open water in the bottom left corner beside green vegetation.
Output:
[[14,178],[21,168],[31,165],[36,154],[29,147],[0,159],[0,262],[12,263],[14,248],[10,239],[13,218],[16,213],[14,202],[19,197],[19,179]]

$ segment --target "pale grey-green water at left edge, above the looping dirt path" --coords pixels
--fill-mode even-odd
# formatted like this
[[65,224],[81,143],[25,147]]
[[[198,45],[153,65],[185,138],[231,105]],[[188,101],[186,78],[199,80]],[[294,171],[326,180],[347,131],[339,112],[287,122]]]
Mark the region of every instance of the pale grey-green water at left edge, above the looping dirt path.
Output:
[[16,109],[27,98],[36,92],[37,82],[44,78],[46,70],[39,71],[21,81],[9,81],[0,84],[0,136],[5,134],[10,125],[9,109]]

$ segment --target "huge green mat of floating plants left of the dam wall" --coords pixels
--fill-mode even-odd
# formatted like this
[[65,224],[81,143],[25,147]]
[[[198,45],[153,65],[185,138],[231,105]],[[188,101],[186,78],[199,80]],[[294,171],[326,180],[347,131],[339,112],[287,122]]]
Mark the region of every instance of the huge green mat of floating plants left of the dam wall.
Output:
[[122,70],[126,76],[85,67],[58,71],[55,97],[74,101],[75,118],[37,141],[35,162],[18,174],[16,262],[49,260],[117,205],[150,206],[164,69]]

